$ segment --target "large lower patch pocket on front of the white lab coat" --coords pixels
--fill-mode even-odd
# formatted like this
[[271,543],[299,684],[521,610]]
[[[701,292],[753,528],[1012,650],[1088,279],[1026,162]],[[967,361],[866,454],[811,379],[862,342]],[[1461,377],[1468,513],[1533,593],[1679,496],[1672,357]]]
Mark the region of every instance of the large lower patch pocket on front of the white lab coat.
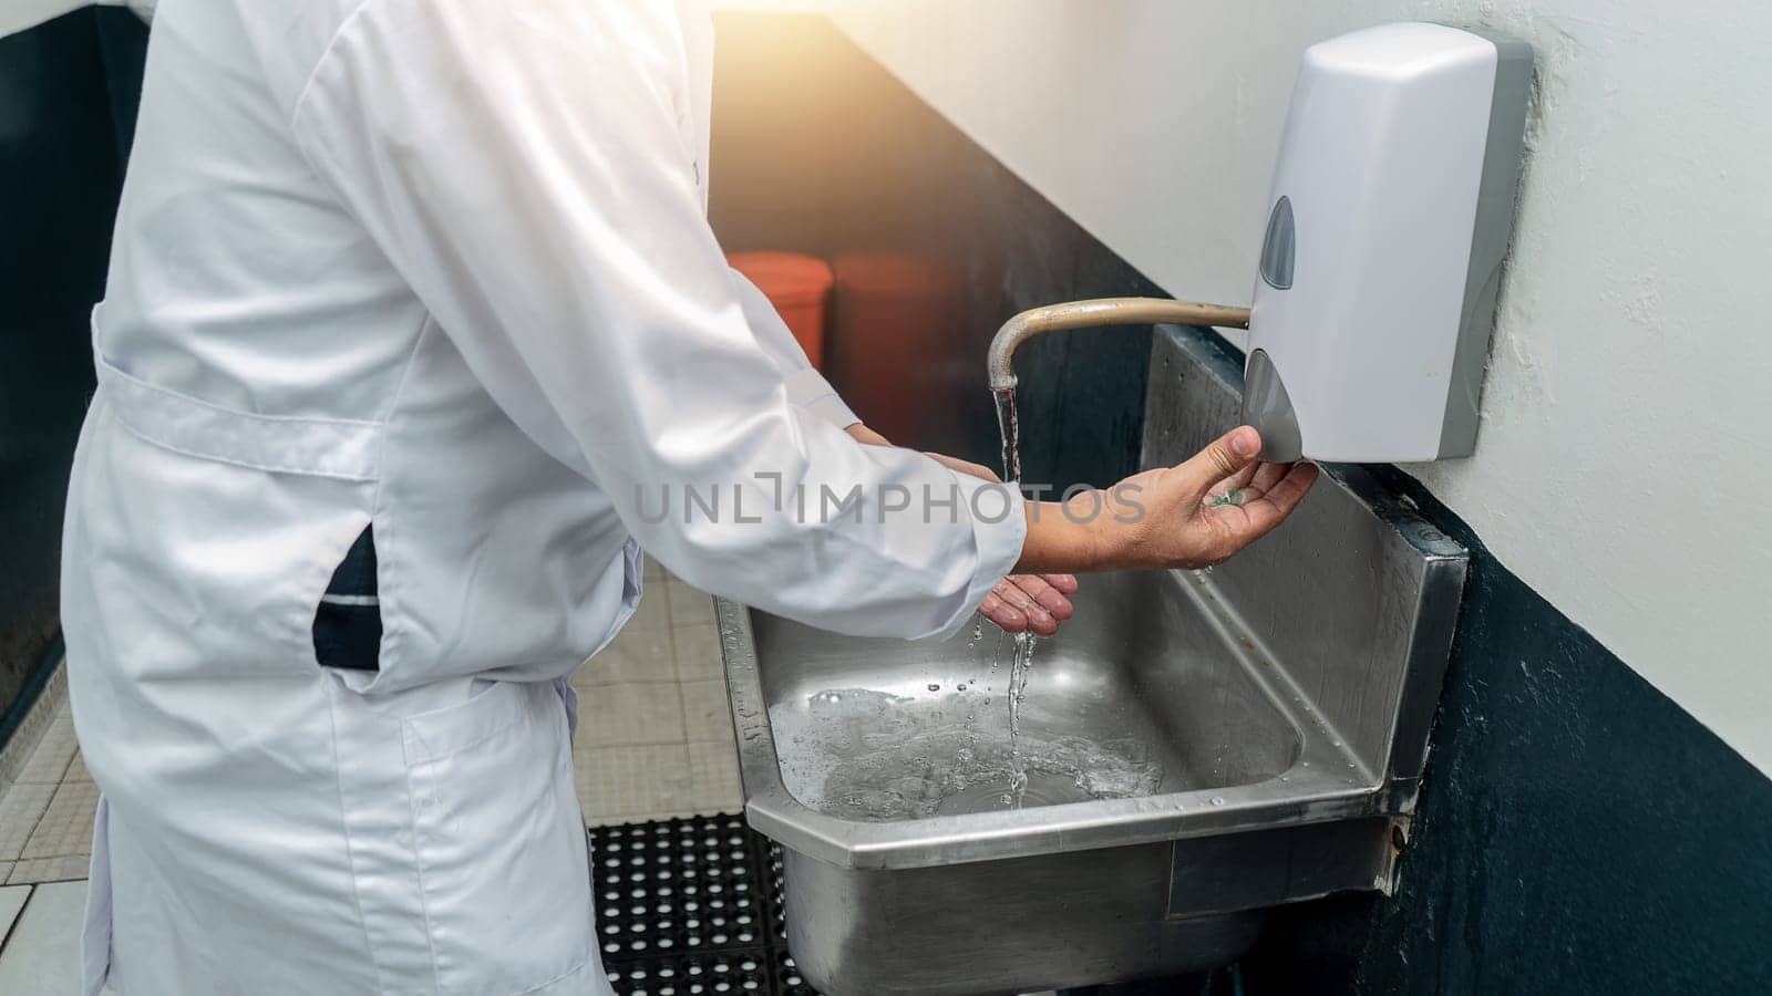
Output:
[[590,868],[565,709],[548,684],[486,682],[404,720],[438,991],[526,992],[592,953]]

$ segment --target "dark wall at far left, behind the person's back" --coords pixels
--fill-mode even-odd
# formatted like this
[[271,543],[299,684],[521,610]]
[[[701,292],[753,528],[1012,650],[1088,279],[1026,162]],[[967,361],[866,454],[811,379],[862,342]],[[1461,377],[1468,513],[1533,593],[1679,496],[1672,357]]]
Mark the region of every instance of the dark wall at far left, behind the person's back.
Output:
[[140,80],[144,32],[124,21],[85,9],[0,39],[0,709],[21,705],[58,629],[62,498],[92,393],[87,314]]

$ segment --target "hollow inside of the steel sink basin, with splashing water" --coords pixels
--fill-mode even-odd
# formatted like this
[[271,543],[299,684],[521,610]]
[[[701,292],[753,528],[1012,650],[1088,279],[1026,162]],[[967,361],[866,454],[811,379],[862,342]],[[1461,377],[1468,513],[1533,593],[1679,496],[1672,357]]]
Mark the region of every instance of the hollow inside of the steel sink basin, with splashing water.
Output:
[[[1310,720],[1224,642],[1200,578],[1100,574],[1081,580],[1074,603],[1076,620],[1035,642],[1026,670],[1014,744],[1022,808],[1258,785],[1290,771],[1306,743],[1325,778],[1356,782],[1352,755],[1306,737]],[[758,681],[799,805],[902,822],[1017,803],[1015,638],[985,624],[944,643],[858,640],[764,613],[750,629],[758,659],[780,661]]]

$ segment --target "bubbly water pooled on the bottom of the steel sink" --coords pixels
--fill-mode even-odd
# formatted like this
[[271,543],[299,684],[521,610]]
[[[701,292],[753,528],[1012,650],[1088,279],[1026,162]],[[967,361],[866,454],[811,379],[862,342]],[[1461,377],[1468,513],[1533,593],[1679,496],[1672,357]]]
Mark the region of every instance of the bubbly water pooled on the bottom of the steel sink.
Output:
[[787,789],[829,815],[877,822],[1123,799],[1162,785],[1162,766],[1134,737],[1049,734],[1019,707],[1024,728],[1012,734],[980,723],[976,698],[838,688],[778,704],[769,723]]

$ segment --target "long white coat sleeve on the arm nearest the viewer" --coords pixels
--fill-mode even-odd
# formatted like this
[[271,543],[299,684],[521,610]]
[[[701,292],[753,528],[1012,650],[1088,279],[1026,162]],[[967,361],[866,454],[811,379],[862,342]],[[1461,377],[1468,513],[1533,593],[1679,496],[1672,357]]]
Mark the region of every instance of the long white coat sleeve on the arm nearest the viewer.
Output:
[[702,213],[670,7],[370,0],[296,140],[500,408],[666,567],[828,629],[953,633],[1021,556],[1021,494],[792,404]]

